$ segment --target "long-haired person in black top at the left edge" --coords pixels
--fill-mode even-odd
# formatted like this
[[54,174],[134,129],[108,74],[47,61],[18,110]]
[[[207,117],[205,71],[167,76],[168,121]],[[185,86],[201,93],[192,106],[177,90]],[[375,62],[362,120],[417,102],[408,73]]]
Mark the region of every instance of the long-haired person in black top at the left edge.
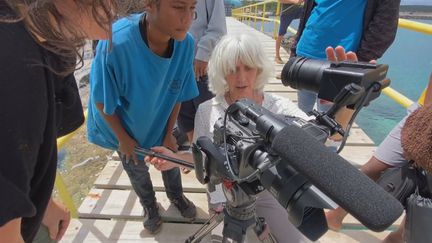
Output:
[[83,123],[72,72],[84,39],[110,38],[121,8],[107,2],[0,0],[0,242],[32,242],[44,214],[56,240],[67,227],[56,138]]

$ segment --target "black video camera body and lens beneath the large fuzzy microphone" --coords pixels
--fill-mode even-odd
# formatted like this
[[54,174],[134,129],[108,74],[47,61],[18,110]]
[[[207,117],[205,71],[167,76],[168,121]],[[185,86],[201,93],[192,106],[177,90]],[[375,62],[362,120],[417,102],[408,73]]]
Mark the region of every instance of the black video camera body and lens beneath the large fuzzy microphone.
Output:
[[240,220],[254,216],[256,194],[267,189],[304,235],[318,239],[327,231],[323,208],[332,208],[332,202],[275,154],[271,142],[290,125],[321,143],[330,136],[329,130],[301,118],[273,114],[248,99],[231,105],[227,119],[215,123],[213,141],[200,137],[193,145],[198,180],[203,184],[223,183],[226,212]]

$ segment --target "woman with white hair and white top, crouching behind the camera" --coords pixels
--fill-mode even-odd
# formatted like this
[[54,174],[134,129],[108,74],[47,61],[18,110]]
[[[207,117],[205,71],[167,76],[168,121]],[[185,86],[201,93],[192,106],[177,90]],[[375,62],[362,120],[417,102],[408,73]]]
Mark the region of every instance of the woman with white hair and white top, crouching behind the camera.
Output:
[[[227,107],[241,98],[249,98],[264,108],[279,114],[308,119],[297,105],[289,99],[264,92],[264,86],[273,74],[271,62],[265,56],[258,40],[249,35],[228,35],[223,37],[213,50],[208,66],[209,89],[216,96],[202,103],[195,116],[193,141],[200,136],[213,137],[213,125],[225,114]],[[174,154],[163,147],[154,151],[193,161],[190,154]],[[159,170],[177,166],[165,160],[146,160]],[[226,201],[221,186],[209,194],[210,208]],[[258,194],[256,212],[264,217],[271,233],[278,242],[308,242],[289,222],[286,210],[267,191]]]

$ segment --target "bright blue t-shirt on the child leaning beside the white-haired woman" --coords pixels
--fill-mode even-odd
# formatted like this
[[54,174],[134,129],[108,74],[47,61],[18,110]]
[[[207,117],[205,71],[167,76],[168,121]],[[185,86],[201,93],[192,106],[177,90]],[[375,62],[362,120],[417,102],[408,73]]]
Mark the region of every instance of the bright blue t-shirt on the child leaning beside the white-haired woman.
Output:
[[108,41],[99,42],[90,72],[88,139],[112,150],[119,143],[96,103],[104,105],[104,113],[116,114],[141,147],[150,148],[162,144],[176,103],[198,95],[193,38],[174,41],[171,57],[160,57],[142,39],[141,15],[113,25],[112,50]]

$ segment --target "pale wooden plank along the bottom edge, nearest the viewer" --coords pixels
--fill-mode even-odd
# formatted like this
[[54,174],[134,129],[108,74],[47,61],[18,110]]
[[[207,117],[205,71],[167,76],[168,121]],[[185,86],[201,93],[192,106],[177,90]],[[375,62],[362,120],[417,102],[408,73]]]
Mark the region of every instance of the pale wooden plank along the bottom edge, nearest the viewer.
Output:
[[[60,242],[184,242],[199,227],[201,227],[200,224],[164,223],[158,234],[151,235],[143,229],[142,223],[137,221],[72,219]],[[375,233],[368,230],[342,230],[340,232],[329,230],[317,242],[378,243],[388,234],[389,231]],[[209,236],[202,242],[210,242]],[[250,232],[248,242],[258,242]]]

